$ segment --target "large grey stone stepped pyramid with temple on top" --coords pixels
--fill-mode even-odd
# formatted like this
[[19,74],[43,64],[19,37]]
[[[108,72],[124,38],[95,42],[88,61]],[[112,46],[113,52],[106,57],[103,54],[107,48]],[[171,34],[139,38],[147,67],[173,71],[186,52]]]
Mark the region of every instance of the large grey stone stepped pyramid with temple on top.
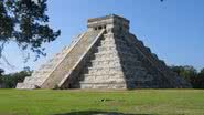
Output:
[[86,32],[17,85],[17,88],[163,87],[191,85],[129,32],[127,19],[115,14],[89,19]]

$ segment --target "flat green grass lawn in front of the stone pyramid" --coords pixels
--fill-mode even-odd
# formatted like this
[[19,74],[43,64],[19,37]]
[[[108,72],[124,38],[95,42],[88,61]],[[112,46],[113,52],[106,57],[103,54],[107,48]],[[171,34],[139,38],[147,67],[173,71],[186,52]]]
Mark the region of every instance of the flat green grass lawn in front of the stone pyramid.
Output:
[[204,115],[204,90],[0,90],[0,115],[89,115],[99,112]]

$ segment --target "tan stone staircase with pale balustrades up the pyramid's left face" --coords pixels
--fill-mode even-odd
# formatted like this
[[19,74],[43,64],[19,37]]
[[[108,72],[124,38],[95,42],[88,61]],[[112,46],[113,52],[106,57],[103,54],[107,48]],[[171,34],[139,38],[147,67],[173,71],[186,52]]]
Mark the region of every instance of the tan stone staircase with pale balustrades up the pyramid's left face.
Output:
[[46,81],[41,85],[42,88],[56,88],[61,87],[63,83],[69,77],[73,70],[78,65],[85,54],[88,52],[89,46],[96,39],[98,39],[104,30],[87,31],[84,36],[75,44],[68,52],[64,60],[51,73]]

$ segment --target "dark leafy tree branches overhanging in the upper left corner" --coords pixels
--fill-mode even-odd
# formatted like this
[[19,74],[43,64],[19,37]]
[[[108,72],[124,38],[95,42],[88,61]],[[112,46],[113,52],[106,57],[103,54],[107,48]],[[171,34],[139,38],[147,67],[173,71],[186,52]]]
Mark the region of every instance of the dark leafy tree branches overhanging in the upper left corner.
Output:
[[61,33],[47,24],[46,0],[0,0],[0,58],[4,44],[14,41],[21,50],[31,50],[36,59],[45,55],[43,43]]

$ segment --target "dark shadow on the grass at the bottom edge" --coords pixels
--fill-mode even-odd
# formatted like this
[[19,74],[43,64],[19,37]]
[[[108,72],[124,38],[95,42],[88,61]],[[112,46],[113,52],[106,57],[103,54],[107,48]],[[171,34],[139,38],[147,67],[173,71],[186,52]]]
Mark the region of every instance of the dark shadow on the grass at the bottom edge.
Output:
[[71,113],[62,113],[54,115],[155,115],[155,114],[125,114],[118,112],[99,112],[99,111],[80,111],[80,112],[71,112]]

